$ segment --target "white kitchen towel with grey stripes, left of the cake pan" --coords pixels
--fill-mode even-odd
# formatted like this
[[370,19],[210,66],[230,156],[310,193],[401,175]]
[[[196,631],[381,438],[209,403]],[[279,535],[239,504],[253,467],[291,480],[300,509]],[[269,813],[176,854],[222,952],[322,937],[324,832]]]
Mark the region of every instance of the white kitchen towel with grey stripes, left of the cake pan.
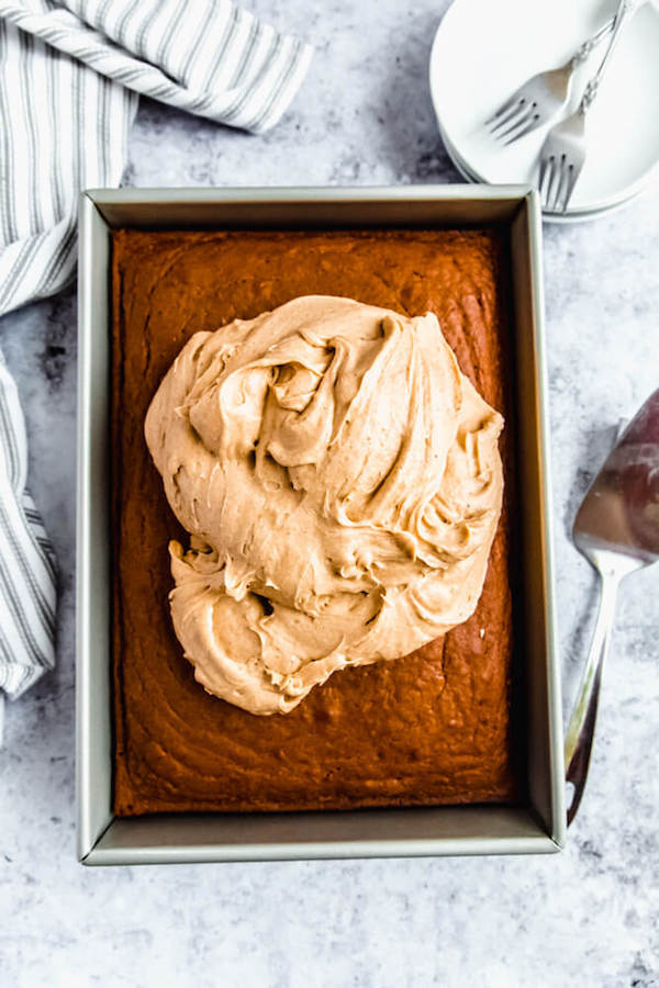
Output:
[[[72,280],[78,194],[119,184],[139,93],[259,133],[311,54],[228,0],[0,0],[0,316]],[[54,664],[53,555],[26,463],[0,356],[0,725],[2,689]]]

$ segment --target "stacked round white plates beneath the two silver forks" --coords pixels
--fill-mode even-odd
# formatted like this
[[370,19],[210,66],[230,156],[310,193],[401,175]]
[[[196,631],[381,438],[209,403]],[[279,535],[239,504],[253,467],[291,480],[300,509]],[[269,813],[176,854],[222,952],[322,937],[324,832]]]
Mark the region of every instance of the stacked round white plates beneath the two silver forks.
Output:
[[[447,150],[466,177],[490,183],[535,179],[551,123],[504,147],[484,122],[525,79],[567,61],[616,7],[616,0],[455,0],[435,35],[431,92]],[[597,48],[576,74],[571,108],[603,52],[604,46]],[[566,222],[608,212],[639,192],[659,164],[659,11],[654,4],[637,10],[624,29],[587,134],[589,153],[570,207],[547,218]]]

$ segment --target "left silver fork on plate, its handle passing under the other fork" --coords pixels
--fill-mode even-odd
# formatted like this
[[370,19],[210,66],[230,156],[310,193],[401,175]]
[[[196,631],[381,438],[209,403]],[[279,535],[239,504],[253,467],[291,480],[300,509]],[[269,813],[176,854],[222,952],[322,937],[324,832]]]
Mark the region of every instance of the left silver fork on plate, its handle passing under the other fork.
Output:
[[504,144],[512,144],[513,141],[551,120],[570,98],[574,69],[585,61],[600,42],[613,31],[614,24],[615,18],[612,18],[596,34],[583,42],[560,68],[549,69],[527,79],[496,113],[485,121],[490,133]]

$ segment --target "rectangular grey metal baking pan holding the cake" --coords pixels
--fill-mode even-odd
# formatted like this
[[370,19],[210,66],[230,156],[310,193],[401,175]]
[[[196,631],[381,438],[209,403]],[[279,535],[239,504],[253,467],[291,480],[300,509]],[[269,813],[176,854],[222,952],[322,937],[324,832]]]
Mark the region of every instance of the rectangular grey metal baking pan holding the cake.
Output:
[[[110,231],[469,227],[510,229],[525,698],[524,806],[316,813],[112,813],[109,485]],[[78,856],[88,865],[558,851],[566,810],[552,614],[541,220],[525,186],[354,189],[121,189],[80,199],[78,350]]]

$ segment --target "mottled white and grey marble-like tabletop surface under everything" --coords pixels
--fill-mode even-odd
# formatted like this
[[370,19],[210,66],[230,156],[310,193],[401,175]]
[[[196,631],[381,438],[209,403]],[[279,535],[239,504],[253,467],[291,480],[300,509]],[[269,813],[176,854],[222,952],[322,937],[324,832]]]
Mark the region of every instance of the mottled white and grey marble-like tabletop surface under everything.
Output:
[[[317,52],[263,137],[155,103],[135,186],[455,182],[426,66],[446,0],[252,0]],[[594,580],[568,530],[612,427],[659,385],[659,198],[546,227],[558,619],[565,708]],[[86,869],[74,850],[74,291],[0,321],[31,478],[62,568],[59,663],[8,707],[0,752],[2,986],[659,985],[659,573],[624,587],[589,787],[540,858]]]

